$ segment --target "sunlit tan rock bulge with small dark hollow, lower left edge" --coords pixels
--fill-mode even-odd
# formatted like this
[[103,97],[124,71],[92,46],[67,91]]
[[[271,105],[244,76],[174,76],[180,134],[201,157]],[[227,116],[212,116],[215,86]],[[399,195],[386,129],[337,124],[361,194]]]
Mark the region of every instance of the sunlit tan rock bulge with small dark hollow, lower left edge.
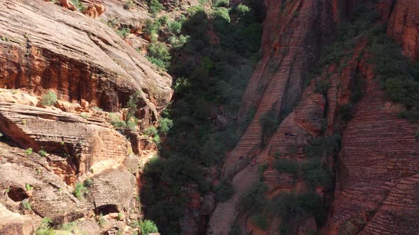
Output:
[[[21,201],[27,199],[36,214],[63,223],[83,217],[90,207],[69,192],[70,188],[51,172],[46,159],[38,154],[27,154],[1,143],[0,156],[3,159],[0,186],[7,192],[1,194],[0,200],[9,210],[22,212]],[[26,185],[31,185],[31,189]],[[34,225],[38,224],[36,221],[40,219]]]

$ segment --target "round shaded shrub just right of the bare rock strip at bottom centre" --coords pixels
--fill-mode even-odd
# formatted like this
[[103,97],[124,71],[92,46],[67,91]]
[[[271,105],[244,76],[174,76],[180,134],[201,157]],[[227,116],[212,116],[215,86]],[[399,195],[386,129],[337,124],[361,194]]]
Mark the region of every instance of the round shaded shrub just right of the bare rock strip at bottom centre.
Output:
[[249,214],[257,214],[266,207],[265,193],[268,186],[265,183],[255,183],[240,197],[240,207]]

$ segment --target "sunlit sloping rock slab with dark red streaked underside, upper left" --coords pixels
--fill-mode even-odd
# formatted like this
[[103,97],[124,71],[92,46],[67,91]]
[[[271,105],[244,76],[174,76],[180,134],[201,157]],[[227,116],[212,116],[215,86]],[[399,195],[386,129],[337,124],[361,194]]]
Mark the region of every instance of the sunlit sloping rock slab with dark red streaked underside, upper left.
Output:
[[52,88],[64,101],[84,98],[115,111],[134,91],[156,120],[171,79],[106,25],[45,1],[0,1],[0,86]]

